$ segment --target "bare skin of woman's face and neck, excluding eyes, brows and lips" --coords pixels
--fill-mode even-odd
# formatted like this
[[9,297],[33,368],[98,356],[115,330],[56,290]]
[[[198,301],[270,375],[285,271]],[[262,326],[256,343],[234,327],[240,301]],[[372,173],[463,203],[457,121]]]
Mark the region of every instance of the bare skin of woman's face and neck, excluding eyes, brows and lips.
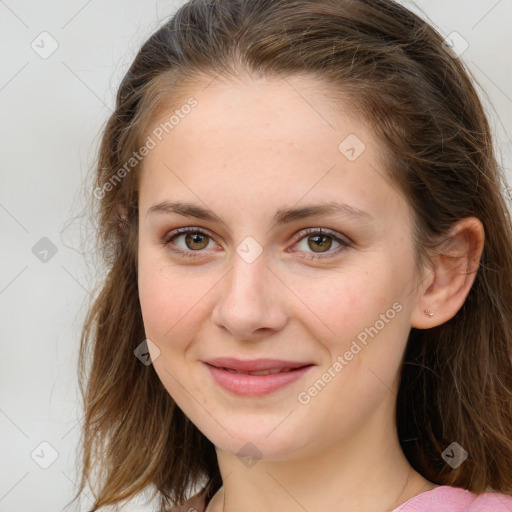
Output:
[[[398,371],[420,277],[411,213],[383,178],[382,149],[365,126],[334,111],[311,80],[247,79],[202,89],[190,91],[198,106],[143,162],[139,292],[146,335],[160,350],[154,369],[215,444],[223,476],[231,475],[223,487],[226,512],[302,510],[290,495],[309,512],[378,511],[393,504],[406,481],[406,493],[432,487],[409,466],[395,432]],[[338,150],[349,134],[366,147],[354,161]],[[208,207],[224,223],[146,215],[164,200]],[[331,200],[373,219],[330,215],[272,228],[279,208]],[[159,243],[181,227],[211,234],[196,257]],[[293,241],[306,228],[354,243],[335,254],[340,245],[328,239],[331,252],[317,253],[315,235]],[[263,250],[252,263],[236,252],[248,236]],[[192,252],[185,240],[175,244]],[[315,254],[332,256],[307,259]],[[301,404],[298,394],[394,303],[400,312]],[[200,362],[219,356],[316,366],[275,393],[243,397],[218,387]],[[248,442],[261,453],[251,468],[236,457]],[[210,510],[222,503],[212,501]]]

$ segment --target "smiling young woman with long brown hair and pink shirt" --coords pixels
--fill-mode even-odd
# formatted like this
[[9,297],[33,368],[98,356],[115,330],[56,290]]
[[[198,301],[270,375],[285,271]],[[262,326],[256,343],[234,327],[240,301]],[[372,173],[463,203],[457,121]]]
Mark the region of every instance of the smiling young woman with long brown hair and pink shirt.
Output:
[[399,4],[182,6],[99,154],[90,509],[512,510],[503,186],[468,71]]

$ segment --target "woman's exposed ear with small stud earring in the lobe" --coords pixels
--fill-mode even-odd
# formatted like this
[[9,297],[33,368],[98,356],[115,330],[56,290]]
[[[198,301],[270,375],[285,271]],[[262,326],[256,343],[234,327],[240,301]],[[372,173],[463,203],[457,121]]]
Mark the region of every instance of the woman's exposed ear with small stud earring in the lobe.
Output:
[[456,315],[475,281],[484,240],[484,227],[476,217],[462,219],[452,227],[420,285],[412,327],[430,329]]

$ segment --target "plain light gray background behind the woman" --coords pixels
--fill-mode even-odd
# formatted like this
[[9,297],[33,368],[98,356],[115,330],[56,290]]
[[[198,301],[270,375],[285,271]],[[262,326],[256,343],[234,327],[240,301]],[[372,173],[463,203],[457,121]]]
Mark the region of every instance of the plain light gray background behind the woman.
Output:
[[[182,3],[0,0],[0,512],[64,510],[75,490],[78,340],[100,275],[81,245],[81,187],[122,76]],[[404,3],[469,44],[462,59],[485,91],[510,176],[512,0]],[[51,49],[43,31],[58,43],[47,58],[31,47]],[[43,237],[55,255],[41,252]],[[42,442],[58,452],[48,469],[38,465],[52,461]],[[81,510],[87,505],[85,497]]]

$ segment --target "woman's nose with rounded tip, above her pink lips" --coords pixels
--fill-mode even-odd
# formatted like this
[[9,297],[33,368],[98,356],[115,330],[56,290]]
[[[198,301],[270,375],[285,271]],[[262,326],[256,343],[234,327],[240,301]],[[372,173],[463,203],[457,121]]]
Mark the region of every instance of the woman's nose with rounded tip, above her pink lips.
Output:
[[267,265],[264,254],[251,263],[235,255],[232,269],[216,288],[212,321],[235,339],[267,337],[288,321],[285,286]]

